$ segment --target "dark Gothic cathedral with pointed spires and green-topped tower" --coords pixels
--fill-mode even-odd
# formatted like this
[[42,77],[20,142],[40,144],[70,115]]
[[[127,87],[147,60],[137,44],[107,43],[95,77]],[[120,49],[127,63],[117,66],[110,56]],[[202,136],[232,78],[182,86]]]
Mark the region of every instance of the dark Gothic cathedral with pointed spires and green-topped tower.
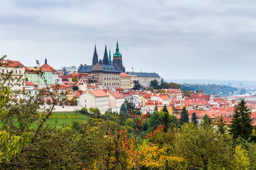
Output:
[[103,59],[98,59],[98,54],[95,45],[92,65],[96,65],[96,63],[99,63],[99,65],[114,65],[117,68],[117,70],[125,73],[125,67],[122,64],[122,54],[119,52],[118,41],[116,42],[116,52],[113,54],[113,61],[111,61],[110,50],[108,56],[107,45],[105,45]]

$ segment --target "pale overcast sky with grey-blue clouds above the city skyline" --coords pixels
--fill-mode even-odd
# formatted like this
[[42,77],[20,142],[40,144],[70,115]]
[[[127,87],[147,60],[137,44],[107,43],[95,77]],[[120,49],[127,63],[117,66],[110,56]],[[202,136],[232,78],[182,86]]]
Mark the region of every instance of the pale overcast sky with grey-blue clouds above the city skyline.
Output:
[[255,0],[0,0],[0,56],[55,69],[122,52],[126,71],[255,81]]

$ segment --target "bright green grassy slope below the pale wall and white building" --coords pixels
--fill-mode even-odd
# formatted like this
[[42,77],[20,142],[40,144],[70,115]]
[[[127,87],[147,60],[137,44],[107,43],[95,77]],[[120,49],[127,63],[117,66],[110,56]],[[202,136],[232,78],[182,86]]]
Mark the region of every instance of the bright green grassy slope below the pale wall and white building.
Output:
[[[49,118],[45,122],[45,125],[48,124],[51,127],[55,127],[55,125],[56,125],[56,127],[62,127],[62,126],[66,127],[74,121],[79,122],[79,124],[81,124],[83,121],[87,121],[89,119],[88,116],[85,116],[80,113],[76,113],[75,111],[73,111],[73,112],[53,112],[53,115],[51,117],[63,116],[64,114],[66,114],[70,118]],[[79,118],[73,118],[74,116],[79,116]],[[37,127],[37,126],[38,125],[36,125],[35,123],[31,125],[32,128]]]

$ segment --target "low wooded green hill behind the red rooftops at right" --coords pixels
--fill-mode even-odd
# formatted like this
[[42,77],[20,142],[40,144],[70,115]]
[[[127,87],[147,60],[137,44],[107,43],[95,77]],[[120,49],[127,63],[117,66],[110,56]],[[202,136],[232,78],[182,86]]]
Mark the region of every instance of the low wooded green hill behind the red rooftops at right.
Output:
[[230,87],[227,85],[202,85],[202,84],[186,84],[184,83],[182,86],[182,90],[190,90],[190,91],[198,91],[202,90],[205,94],[219,94],[222,92],[223,94],[233,93],[235,91],[239,91],[239,89]]

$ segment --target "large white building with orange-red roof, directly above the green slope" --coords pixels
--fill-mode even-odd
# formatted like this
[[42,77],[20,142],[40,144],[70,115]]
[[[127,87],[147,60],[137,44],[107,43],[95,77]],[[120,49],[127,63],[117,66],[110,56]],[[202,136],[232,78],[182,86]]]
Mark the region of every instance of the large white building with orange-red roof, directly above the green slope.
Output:
[[103,90],[90,90],[84,92],[79,99],[80,105],[86,108],[98,108],[105,113],[109,108],[109,94]]

